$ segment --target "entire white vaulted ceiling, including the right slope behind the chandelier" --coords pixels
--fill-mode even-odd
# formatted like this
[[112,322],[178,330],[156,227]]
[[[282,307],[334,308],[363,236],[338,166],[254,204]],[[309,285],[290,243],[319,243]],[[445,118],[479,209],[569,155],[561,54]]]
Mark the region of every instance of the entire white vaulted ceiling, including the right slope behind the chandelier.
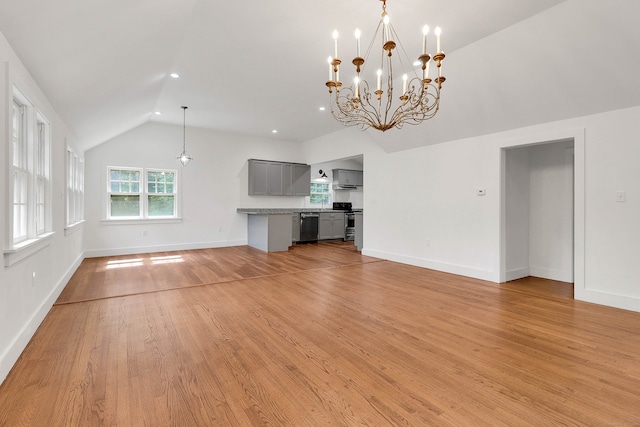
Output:
[[[609,109],[638,103],[638,89],[626,79],[640,71],[630,58],[639,47],[639,3],[388,0],[387,10],[409,55],[419,53],[424,24],[443,28],[444,117],[427,134],[440,142],[588,113],[585,101]],[[190,126],[306,141],[342,129],[319,111],[328,103],[332,31],[352,56],[353,30],[368,43],[381,4],[4,1],[0,31],[85,149],[147,121],[181,124],[181,105],[189,106]],[[505,36],[494,42],[490,36],[499,32]],[[179,79],[169,77],[174,72]],[[575,80],[569,72],[578,73]]]

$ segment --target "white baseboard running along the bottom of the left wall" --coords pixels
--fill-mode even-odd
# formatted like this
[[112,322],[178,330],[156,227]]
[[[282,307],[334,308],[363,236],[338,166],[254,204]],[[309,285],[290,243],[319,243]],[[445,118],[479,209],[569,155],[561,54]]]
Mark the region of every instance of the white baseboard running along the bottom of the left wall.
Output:
[[24,351],[24,349],[29,344],[31,338],[36,333],[36,330],[47,316],[51,307],[56,302],[64,287],[71,280],[71,276],[76,272],[82,260],[84,259],[84,255],[80,254],[78,258],[73,262],[73,264],[67,269],[65,274],[58,280],[58,283],[51,289],[51,292],[46,296],[46,298],[42,301],[42,303],[38,306],[38,308],[33,312],[31,317],[27,320],[24,326],[20,329],[15,339],[8,346],[7,350],[0,355],[0,384],[5,380],[9,371],[15,363],[18,361],[18,358]]

